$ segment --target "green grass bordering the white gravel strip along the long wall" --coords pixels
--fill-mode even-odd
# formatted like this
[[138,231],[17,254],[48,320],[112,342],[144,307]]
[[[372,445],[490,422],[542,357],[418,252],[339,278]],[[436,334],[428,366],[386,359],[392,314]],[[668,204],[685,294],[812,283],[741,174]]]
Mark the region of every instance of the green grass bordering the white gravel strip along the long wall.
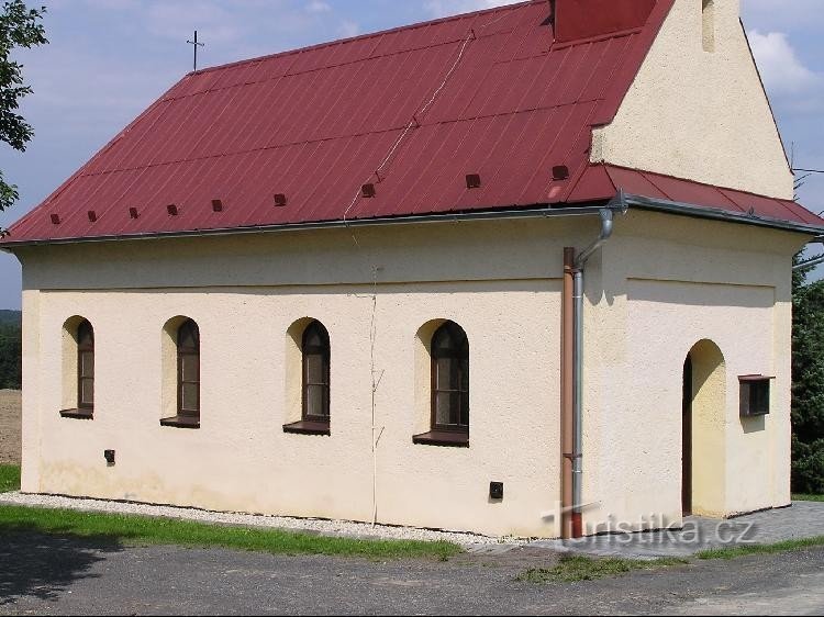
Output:
[[[20,468],[0,465],[0,493],[20,489]],[[227,527],[188,520],[0,506],[0,537],[14,532],[87,538],[127,546],[171,545],[276,554],[324,554],[367,559],[438,559],[463,549],[450,542],[331,538],[280,529]]]

